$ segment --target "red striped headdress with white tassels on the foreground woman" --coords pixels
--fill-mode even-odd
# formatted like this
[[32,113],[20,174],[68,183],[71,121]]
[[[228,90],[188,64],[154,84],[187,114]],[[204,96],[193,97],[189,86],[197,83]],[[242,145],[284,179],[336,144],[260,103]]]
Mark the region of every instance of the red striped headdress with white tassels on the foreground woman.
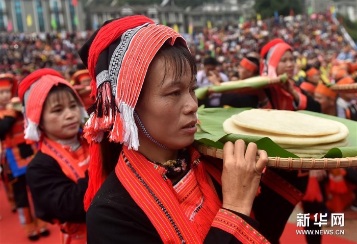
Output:
[[84,128],[88,141],[110,140],[139,148],[134,108],[151,60],[164,43],[184,38],[169,27],[144,16],[109,20],[79,51],[92,77],[95,105]]

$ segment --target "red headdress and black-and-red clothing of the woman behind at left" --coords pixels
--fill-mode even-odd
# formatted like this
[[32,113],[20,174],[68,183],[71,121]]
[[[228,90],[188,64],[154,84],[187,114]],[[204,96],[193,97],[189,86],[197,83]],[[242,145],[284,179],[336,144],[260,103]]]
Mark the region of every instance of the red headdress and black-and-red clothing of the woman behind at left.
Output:
[[[62,243],[86,243],[83,198],[88,185],[89,147],[78,134],[76,145],[53,141],[41,133],[39,124],[48,92],[59,84],[72,86],[55,70],[40,69],[19,85],[18,95],[24,105],[25,138],[38,141],[39,152],[32,159],[26,178],[35,212],[46,222],[59,224]],[[87,116],[81,104],[81,119]],[[77,140],[78,139],[78,140]]]

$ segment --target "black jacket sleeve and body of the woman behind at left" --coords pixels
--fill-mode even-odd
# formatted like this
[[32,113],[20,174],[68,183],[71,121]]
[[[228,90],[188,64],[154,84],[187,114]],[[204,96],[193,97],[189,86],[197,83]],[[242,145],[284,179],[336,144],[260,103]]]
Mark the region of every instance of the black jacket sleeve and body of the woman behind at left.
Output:
[[75,183],[62,171],[58,162],[38,152],[27,167],[26,180],[30,187],[36,216],[43,221],[53,223],[84,223],[84,194],[88,187],[86,177]]

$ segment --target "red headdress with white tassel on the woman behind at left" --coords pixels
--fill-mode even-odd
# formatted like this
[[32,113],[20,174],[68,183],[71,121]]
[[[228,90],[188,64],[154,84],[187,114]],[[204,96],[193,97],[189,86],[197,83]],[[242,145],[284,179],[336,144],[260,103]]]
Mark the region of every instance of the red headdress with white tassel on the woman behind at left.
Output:
[[[50,68],[43,68],[32,72],[25,77],[18,86],[18,96],[23,104],[24,129],[25,139],[39,141],[41,131],[38,129],[40,124],[43,104],[46,101],[47,94],[50,89],[58,84],[64,84],[72,88],[74,93],[80,96],[73,89],[71,84],[67,82],[59,72]],[[81,106],[81,121],[88,117],[84,105]]]

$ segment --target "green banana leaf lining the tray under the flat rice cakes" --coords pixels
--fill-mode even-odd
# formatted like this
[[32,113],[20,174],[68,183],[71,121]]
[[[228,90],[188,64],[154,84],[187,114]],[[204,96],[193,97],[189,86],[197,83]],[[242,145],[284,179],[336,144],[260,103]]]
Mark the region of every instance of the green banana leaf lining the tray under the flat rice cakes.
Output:
[[[281,148],[278,144],[272,141],[268,137],[226,134],[223,131],[222,124],[225,119],[231,117],[234,114],[238,114],[242,111],[251,108],[202,108],[198,109],[198,119],[200,121],[199,130],[195,134],[195,139],[205,145],[211,147],[223,149],[223,145],[227,141],[236,141],[243,139],[246,144],[254,142],[257,144],[258,149],[265,150],[270,157],[292,157],[299,158],[298,156]],[[343,158],[357,156],[357,122],[339,118],[336,116],[330,116],[321,113],[315,113],[310,111],[297,111],[301,113],[310,114],[317,117],[328,118],[335,121],[339,121],[346,125],[349,129],[348,140],[350,147],[333,148],[329,150],[323,157],[327,158]]]

